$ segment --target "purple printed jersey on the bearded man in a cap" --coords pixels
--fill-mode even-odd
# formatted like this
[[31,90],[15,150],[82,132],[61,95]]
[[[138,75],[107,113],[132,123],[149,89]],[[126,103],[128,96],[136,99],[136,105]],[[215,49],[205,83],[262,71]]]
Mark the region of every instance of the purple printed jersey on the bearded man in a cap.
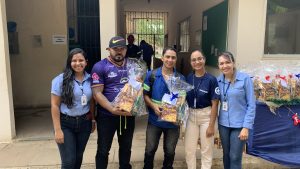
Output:
[[[104,85],[103,95],[112,102],[119,94],[124,85],[128,82],[128,74],[126,70],[127,59],[122,66],[118,66],[105,58],[97,62],[92,71],[92,87]],[[100,112],[105,115],[112,115],[108,110],[99,106]]]

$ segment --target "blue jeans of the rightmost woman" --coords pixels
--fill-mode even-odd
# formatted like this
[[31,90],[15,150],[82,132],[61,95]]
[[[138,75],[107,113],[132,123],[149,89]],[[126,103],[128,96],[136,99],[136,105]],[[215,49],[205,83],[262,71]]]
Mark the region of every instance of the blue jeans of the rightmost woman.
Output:
[[238,137],[242,128],[229,128],[219,125],[221,144],[223,147],[224,169],[241,169],[243,147],[246,141]]

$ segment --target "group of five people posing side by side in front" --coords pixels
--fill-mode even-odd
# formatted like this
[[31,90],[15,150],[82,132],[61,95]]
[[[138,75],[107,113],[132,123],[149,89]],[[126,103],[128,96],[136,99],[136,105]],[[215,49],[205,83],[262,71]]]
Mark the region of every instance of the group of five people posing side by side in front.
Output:
[[[95,128],[98,132],[96,168],[107,168],[109,151],[116,132],[119,168],[132,168],[130,156],[135,117],[111,104],[128,82],[128,46],[124,38],[116,36],[111,38],[107,50],[109,56],[93,66],[91,75],[85,72],[88,60],[84,51],[78,48],[71,50],[64,72],[52,81],[51,113],[55,141],[64,169],[80,168],[89,135]],[[166,81],[170,76],[176,76],[194,86],[187,93],[190,109],[185,132],[185,155],[188,168],[196,169],[199,138],[201,168],[211,168],[213,136],[218,117],[224,168],[241,169],[243,147],[255,116],[255,98],[250,77],[236,70],[235,60],[230,52],[218,56],[221,71],[218,78],[206,72],[206,58],[200,50],[191,54],[193,72],[187,77],[175,69],[177,51],[174,48],[166,47],[161,60],[163,65],[149,71],[144,80],[144,100],[149,116],[143,168],[153,168],[162,134],[162,168],[173,168],[180,128],[174,123],[159,120],[159,116],[162,113],[162,97],[170,92]]]

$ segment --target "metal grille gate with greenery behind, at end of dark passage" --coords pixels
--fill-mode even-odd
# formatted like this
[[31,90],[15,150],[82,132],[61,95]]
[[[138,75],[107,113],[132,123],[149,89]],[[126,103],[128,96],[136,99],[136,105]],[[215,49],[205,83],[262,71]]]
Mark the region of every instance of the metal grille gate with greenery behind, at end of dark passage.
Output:
[[145,40],[153,46],[154,55],[160,55],[167,41],[167,19],[167,12],[125,11],[126,36],[134,35],[136,45]]

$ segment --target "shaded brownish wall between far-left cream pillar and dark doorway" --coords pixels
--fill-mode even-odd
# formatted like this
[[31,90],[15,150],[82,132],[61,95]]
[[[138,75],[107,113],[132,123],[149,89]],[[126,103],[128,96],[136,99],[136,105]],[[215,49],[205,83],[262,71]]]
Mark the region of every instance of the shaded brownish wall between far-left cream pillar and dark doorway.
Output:
[[52,43],[52,35],[67,35],[66,0],[9,0],[6,9],[19,39],[19,54],[10,55],[14,106],[49,106],[51,80],[67,57],[67,44]]

